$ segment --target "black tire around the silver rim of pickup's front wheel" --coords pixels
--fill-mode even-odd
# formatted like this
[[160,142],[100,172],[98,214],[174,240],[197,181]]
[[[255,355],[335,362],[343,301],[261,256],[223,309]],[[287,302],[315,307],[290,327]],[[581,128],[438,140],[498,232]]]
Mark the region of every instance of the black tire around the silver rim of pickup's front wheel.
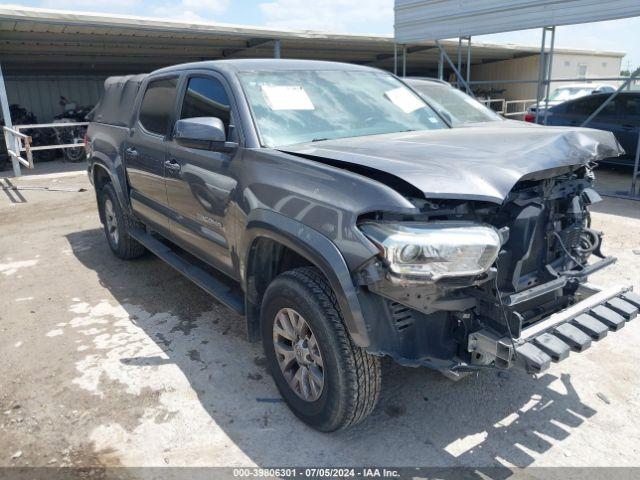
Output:
[[[274,322],[282,309],[294,309],[309,325],[323,360],[319,398],[307,401],[285,378],[274,347]],[[267,365],[293,413],[311,427],[333,432],[366,418],[378,402],[380,359],[357,347],[349,336],[336,296],[315,268],[302,267],[278,276],[267,288],[261,308]]]

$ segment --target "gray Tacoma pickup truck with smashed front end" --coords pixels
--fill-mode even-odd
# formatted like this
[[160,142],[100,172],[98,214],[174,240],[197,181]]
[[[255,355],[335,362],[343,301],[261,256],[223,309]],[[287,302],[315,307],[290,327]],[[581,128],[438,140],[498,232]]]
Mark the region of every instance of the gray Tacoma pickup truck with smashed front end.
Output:
[[608,132],[451,128],[387,72],[227,60],[109,78],[86,148],[113,253],[244,314],[322,431],[374,409],[383,356],[540,372],[640,307],[586,283],[615,261],[588,213]]

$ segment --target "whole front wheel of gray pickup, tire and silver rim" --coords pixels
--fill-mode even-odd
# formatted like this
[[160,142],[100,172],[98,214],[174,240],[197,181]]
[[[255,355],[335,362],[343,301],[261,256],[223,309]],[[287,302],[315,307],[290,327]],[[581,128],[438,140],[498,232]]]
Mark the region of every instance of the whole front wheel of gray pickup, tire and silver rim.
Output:
[[293,413],[332,432],[359,423],[380,394],[380,360],[356,346],[336,296],[315,268],[278,276],[261,308],[267,363]]

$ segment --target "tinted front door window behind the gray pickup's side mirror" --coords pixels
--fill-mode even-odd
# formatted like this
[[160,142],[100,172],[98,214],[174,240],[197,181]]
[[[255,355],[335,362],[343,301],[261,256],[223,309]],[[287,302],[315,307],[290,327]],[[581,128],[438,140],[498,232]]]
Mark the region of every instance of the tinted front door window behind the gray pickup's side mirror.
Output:
[[229,131],[229,97],[220,81],[202,77],[189,79],[180,119],[194,117],[217,117],[224,123],[225,130]]

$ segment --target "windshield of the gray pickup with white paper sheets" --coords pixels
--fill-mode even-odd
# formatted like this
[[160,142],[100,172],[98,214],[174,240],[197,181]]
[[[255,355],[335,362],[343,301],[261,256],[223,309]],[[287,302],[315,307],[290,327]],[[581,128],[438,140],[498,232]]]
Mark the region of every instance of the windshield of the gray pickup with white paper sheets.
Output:
[[384,72],[259,71],[239,77],[267,147],[447,128],[419,96]]

